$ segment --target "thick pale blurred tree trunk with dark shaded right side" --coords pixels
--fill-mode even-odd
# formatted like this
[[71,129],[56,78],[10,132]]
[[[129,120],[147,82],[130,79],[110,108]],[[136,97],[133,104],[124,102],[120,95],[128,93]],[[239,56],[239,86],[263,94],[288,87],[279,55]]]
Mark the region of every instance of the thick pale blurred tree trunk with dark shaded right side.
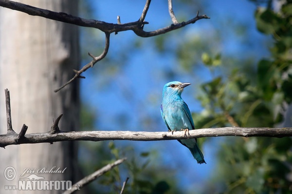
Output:
[[[77,0],[22,0],[21,2],[77,16]],[[0,133],[7,132],[4,89],[11,98],[13,129],[23,124],[27,133],[51,129],[53,119],[63,113],[59,127],[69,131],[79,125],[79,85],[73,84],[54,93],[54,89],[78,69],[79,45],[76,26],[0,7]],[[77,152],[74,142],[7,146],[0,149],[0,193],[61,193],[62,191],[5,191],[4,185],[16,185],[19,178],[31,174],[43,180],[76,181]],[[3,173],[11,166],[16,178],[9,181]],[[39,173],[38,169],[64,170],[63,173]],[[32,171],[24,173],[26,168]],[[11,175],[11,174],[10,174]],[[24,179],[29,181],[29,179]]]

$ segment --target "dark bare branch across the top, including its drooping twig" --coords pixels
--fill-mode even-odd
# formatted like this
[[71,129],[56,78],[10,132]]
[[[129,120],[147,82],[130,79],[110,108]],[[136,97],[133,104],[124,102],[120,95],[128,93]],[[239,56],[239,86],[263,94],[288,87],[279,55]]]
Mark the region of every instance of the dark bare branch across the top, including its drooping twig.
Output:
[[24,12],[24,13],[32,15],[32,16],[41,16],[41,17],[53,19],[56,21],[70,23],[73,25],[96,28],[96,29],[101,30],[102,32],[105,32],[106,46],[105,46],[103,53],[98,57],[94,57],[93,55],[91,55],[89,53],[89,55],[93,58],[93,60],[89,64],[82,67],[82,69],[80,69],[79,71],[74,70],[74,72],[75,72],[74,77],[71,80],[67,81],[63,86],[54,90],[54,92],[58,92],[59,90],[64,88],[66,85],[68,85],[72,81],[74,81],[76,78],[85,78],[85,77],[81,76],[81,73],[86,71],[89,67],[93,67],[93,65],[95,63],[102,60],[107,55],[108,50],[109,50],[109,45],[110,45],[110,33],[112,33],[112,32],[115,32],[115,34],[117,34],[118,32],[131,30],[131,31],[135,32],[135,34],[138,36],[151,37],[151,36],[157,36],[160,34],[164,34],[166,32],[170,32],[170,31],[182,28],[188,24],[195,23],[199,19],[210,18],[206,15],[199,16],[199,12],[198,12],[197,16],[194,17],[193,19],[190,19],[186,22],[179,23],[176,20],[174,13],[173,13],[173,10],[172,10],[172,0],[168,0],[169,14],[171,16],[173,24],[168,26],[168,27],[158,29],[156,31],[146,32],[143,30],[143,28],[144,28],[145,24],[148,24],[148,22],[145,21],[145,17],[146,17],[147,11],[149,9],[150,2],[151,2],[151,0],[146,0],[145,7],[144,7],[142,14],[141,14],[141,17],[139,18],[138,21],[129,22],[126,24],[121,24],[119,18],[118,18],[117,24],[113,24],[113,23],[107,23],[104,21],[99,21],[99,20],[94,20],[94,19],[85,19],[85,18],[81,18],[81,17],[77,17],[77,16],[72,16],[70,14],[66,14],[63,12],[53,12],[53,11],[33,7],[30,5],[26,5],[26,4],[11,1],[11,0],[0,0],[0,6],[6,7],[9,9],[13,9],[13,10],[17,10],[20,12]]

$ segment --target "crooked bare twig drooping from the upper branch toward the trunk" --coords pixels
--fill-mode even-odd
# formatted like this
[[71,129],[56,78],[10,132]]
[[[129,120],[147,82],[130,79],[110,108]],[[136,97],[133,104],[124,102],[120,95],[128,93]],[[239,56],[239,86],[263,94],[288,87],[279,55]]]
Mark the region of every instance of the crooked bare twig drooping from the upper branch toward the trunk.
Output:
[[[54,92],[58,92],[59,90],[64,88],[66,85],[68,85],[72,81],[74,81],[76,78],[81,77],[80,76],[81,73],[83,73],[84,71],[86,71],[90,67],[93,67],[94,64],[96,64],[98,61],[100,61],[103,58],[105,58],[105,56],[107,55],[107,53],[109,51],[109,48],[110,48],[110,33],[106,32],[105,34],[106,34],[106,43],[105,43],[105,49],[103,50],[103,52],[98,57],[95,57],[91,53],[88,53],[93,58],[93,60],[90,63],[84,65],[79,71],[74,70],[74,72],[75,72],[74,77],[71,80],[67,81],[64,85],[59,87],[58,89],[55,89]],[[82,78],[85,78],[85,77],[82,77]]]

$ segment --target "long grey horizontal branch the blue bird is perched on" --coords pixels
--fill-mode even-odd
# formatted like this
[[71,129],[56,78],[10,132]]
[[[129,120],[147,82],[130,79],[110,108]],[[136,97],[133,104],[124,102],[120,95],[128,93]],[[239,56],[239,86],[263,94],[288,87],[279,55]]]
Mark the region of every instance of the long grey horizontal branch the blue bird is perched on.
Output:
[[292,128],[208,128],[190,130],[189,135],[184,136],[184,131],[174,132],[147,132],[147,131],[70,131],[52,134],[30,133],[17,141],[17,134],[0,135],[0,147],[18,144],[37,144],[61,141],[105,141],[105,140],[130,140],[130,141],[161,141],[181,140],[200,137],[242,136],[242,137],[289,137],[292,136]]

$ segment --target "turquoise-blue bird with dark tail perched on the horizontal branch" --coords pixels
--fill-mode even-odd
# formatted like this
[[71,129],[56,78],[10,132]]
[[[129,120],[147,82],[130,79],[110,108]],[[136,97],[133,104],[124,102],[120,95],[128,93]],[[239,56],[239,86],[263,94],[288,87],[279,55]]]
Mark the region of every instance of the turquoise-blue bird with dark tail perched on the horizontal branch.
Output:
[[[163,100],[161,104],[161,115],[168,130],[188,130],[195,129],[191,112],[181,97],[183,88],[190,83],[171,81],[166,83],[163,88]],[[184,133],[184,134],[185,134]],[[197,145],[197,139],[178,140],[183,146],[191,151],[198,163],[206,163],[204,156]]]

